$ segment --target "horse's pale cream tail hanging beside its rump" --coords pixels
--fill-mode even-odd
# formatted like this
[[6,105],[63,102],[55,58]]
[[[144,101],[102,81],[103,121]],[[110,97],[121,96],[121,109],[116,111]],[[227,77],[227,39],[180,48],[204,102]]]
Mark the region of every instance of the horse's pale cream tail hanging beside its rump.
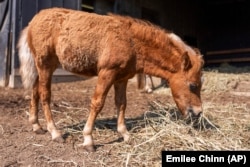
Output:
[[28,27],[23,29],[17,47],[20,61],[19,72],[22,77],[23,86],[26,89],[30,89],[33,87],[38,75],[34,57],[28,44]]

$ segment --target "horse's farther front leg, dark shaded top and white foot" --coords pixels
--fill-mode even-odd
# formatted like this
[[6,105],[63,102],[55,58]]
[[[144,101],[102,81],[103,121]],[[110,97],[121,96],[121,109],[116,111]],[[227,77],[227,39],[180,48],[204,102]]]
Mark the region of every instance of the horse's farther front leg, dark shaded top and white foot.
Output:
[[117,82],[115,87],[115,105],[117,108],[117,131],[122,135],[125,142],[129,141],[129,132],[125,124],[125,110],[127,105],[126,88],[128,80]]

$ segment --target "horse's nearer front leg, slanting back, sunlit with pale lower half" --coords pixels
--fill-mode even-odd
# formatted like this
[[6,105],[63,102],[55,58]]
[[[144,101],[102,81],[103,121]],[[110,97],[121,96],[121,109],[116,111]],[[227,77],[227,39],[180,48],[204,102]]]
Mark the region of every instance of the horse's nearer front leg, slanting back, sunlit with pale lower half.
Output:
[[98,81],[95,88],[95,93],[91,99],[91,108],[88,120],[83,129],[84,143],[83,147],[89,152],[95,151],[92,131],[94,122],[102,110],[107,93],[113,84],[115,72],[101,70],[98,75]]

